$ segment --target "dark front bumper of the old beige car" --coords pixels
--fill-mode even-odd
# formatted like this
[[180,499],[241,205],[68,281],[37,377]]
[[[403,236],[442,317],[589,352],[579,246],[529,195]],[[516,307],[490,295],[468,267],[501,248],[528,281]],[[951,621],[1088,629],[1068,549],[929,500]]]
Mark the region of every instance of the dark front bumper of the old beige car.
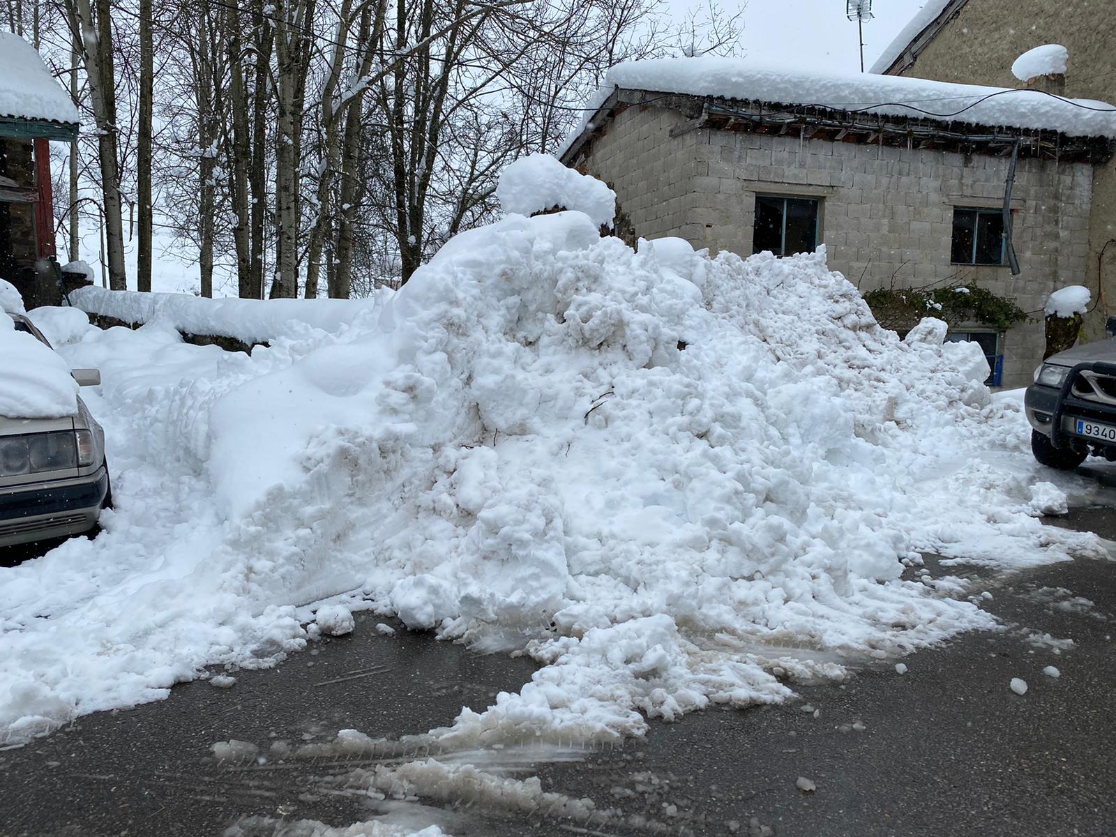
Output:
[[28,488],[0,489],[0,547],[89,531],[108,496],[108,471]]

